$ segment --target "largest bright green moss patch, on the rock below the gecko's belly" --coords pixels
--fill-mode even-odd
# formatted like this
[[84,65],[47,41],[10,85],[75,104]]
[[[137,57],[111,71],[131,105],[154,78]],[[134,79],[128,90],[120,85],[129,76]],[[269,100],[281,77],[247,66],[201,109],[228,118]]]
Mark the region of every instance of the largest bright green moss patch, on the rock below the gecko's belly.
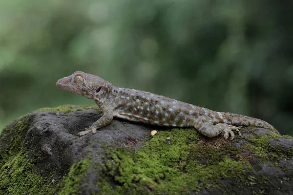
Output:
[[[242,149],[229,142],[221,148],[199,143],[194,129],[160,131],[141,149],[109,149],[105,179],[98,185],[103,194],[189,194],[190,189],[214,188],[222,179],[241,179],[251,168],[237,156]],[[118,185],[113,188],[110,181]]]

